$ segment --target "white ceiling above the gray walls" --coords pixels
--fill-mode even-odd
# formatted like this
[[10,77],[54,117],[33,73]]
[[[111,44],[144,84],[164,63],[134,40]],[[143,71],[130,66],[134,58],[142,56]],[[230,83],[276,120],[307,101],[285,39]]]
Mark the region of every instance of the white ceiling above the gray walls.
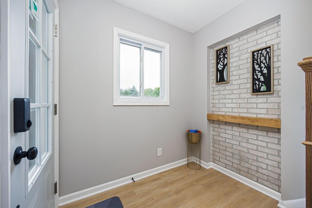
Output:
[[244,0],[114,0],[139,12],[195,33]]

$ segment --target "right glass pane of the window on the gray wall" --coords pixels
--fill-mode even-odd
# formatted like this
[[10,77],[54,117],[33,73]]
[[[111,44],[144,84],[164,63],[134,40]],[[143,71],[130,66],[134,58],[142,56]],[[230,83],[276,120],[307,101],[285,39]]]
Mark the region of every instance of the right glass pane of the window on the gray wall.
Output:
[[144,96],[160,96],[161,52],[144,49]]

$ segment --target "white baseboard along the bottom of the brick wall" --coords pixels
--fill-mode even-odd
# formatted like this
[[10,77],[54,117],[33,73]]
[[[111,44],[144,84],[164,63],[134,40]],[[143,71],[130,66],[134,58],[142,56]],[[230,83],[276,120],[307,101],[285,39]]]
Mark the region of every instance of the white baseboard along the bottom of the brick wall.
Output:
[[257,182],[254,182],[253,180],[250,180],[249,178],[239,175],[236,172],[223,168],[215,163],[212,163],[212,168],[226,174],[227,176],[230,176],[231,178],[234,178],[236,181],[239,181],[253,189],[256,189],[257,191],[260,191],[261,193],[264,193],[267,196],[270,196],[271,198],[277,201],[281,199],[281,194],[279,192],[270,189],[266,186],[263,186]]

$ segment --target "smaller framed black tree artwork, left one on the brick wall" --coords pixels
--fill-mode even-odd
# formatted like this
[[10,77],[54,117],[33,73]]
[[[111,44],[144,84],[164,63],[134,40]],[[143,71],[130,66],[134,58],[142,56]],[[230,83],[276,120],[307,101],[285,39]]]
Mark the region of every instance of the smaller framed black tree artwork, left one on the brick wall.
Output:
[[226,45],[215,50],[215,84],[230,82],[229,49],[229,45]]

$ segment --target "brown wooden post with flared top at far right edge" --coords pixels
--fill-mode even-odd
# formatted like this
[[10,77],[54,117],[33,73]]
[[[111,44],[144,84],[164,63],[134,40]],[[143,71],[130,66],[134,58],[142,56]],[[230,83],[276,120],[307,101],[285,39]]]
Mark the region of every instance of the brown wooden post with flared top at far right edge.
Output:
[[306,74],[306,207],[312,207],[312,57],[303,58],[298,66]]

